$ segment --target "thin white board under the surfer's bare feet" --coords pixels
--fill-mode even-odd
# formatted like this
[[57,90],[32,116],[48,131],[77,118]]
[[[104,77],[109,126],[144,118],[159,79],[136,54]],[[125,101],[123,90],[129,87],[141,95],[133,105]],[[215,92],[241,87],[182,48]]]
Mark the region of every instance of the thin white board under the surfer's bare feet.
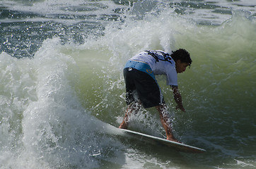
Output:
[[200,149],[195,146],[190,146],[187,144],[169,141],[167,139],[151,136],[149,134],[143,134],[140,132],[134,132],[132,130],[126,130],[126,129],[120,129],[120,130],[122,130],[125,134],[132,135],[136,139],[139,139],[143,142],[149,142],[150,144],[160,144],[162,146],[169,146],[178,151],[184,151],[189,153],[204,153],[206,151],[205,149]]

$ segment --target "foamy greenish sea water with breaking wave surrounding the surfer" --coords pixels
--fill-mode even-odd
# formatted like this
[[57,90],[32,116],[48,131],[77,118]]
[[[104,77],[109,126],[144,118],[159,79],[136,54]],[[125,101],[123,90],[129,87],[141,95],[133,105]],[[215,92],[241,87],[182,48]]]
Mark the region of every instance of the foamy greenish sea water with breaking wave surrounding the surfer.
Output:
[[[256,168],[256,1],[1,1],[0,168]],[[187,154],[120,132],[122,69],[184,48],[186,113],[157,77]],[[130,129],[165,137],[154,108]]]

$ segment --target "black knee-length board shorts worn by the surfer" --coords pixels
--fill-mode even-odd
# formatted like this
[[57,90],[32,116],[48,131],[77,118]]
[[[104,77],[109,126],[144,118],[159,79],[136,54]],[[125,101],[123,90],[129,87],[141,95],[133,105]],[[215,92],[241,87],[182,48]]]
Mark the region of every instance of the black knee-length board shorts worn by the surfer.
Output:
[[124,68],[124,82],[127,92],[127,105],[136,101],[134,91],[137,92],[139,101],[144,108],[151,108],[164,103],[158,83],[147,73],[136,70],[135,68]]

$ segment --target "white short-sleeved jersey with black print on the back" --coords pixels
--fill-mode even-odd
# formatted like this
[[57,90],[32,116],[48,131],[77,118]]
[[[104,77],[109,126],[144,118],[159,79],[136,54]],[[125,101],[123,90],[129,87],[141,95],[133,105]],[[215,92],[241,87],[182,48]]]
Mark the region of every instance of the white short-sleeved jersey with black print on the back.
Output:
[[148,64],[154,75],[166,75],[167,85],[178,86],[175,61],[164,51],[142,51],[130,58],[129,61],[139,61]]

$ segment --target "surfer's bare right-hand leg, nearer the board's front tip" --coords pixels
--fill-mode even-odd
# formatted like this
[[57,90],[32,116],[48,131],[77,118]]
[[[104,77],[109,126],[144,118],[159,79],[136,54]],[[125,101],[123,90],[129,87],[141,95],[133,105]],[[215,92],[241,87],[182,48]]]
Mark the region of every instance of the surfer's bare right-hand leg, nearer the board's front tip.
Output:
[[159,105],[159,106],[156,106],[156,109],[159,112],[161,123],[163,125],[163,128],[165,129],[167,139],[173,142],[178,142],[178,139],[175,139],[175,137],[173,136],[171,123],[169,120],[170,117],[168,117],[168,111],[166,106]]

